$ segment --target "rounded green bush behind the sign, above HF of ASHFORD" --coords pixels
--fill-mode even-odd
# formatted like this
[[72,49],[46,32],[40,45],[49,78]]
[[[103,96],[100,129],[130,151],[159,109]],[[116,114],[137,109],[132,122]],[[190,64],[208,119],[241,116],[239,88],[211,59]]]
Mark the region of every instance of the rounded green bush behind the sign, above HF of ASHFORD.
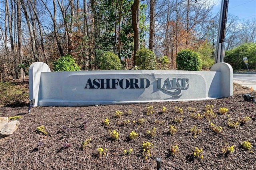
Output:
[[98,57],[97,61],[99,63],[101,70],[120,70],[122,69],[121,60],[118,55],[113,52],[105,52],[102,53],[100,57]]

